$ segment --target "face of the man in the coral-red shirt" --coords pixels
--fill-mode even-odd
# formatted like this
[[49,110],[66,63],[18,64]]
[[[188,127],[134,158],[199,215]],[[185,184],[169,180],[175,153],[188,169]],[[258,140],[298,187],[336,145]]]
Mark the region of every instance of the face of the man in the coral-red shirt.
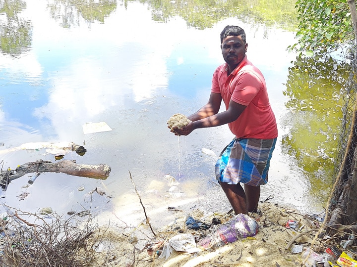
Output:
[[[236,68],[243,60],[248,44],[240,36],[227,36],[222,41],[222,55],[230,67]],[[232,71],[232,70],[231,70]]]

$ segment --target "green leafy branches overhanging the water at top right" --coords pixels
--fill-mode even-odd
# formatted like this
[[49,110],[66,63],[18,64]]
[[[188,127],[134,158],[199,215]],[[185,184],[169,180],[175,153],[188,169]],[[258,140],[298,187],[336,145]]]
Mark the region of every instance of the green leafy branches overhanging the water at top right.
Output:
[[297,0],[297,44],[290,49],[312,56],[313,51],[331,52],[355,38],[346,0]]

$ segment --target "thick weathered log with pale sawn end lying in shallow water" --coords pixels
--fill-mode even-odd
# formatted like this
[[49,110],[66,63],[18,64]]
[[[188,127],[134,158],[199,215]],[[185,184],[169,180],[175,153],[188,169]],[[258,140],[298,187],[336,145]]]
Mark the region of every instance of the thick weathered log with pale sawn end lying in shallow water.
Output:
[[0,185],[3,189],[5,189],[9,181],[20,178],[29,173],[43,172],[64,173],[80,177],[106,179],[111,172],[111,168],[107,164],[76,164],[75,161],[72,160],[61,160],[56,163],[38,160],[18,166],[15,171],[8,170],[1,172]]

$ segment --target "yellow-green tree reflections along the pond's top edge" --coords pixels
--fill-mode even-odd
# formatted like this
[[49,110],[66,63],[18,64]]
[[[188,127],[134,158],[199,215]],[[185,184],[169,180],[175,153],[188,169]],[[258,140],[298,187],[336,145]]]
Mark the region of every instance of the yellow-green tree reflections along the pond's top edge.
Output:
[[[136,2],[131,0],[130,2]],[[141,0],[147,3],[154,21],[167,23],[175,16],[186,21],[188,27],[196,29],[212,28],[213,25],[223,19],[237,17],[244,23],[254,25],[264,24],[268,27],[278,25],[283,29],[295,29],[297,25],[295,2],[262,0],[238,1],[238,0]],[[120,1],[127,8],[128,1]],[[105,18],[115,11],[116,0],[51,0],[48,8],[51,16],[61,21],[64,28],[79,26],[79,16],[88,25],[98,21],[104,23]],[[276,12],[279,10],[279,12]]]

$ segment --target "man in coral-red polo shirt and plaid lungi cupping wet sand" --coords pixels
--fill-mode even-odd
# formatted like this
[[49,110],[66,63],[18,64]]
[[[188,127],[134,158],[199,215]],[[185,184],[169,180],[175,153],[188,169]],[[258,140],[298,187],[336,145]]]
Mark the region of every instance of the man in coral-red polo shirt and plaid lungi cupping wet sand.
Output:
[[[187,117],[191,120],[187,126],[171,131],[188,135],[198,128],[228,124],[236,138],[222,151],[216,178],[236,214],[257,212],[260,185],[268,181],[278,136],[264,77],[247,60],[247,47],[243,29],[224,28],[221,49],[226,63],[213,74],[208,103]],[[222,100],[226,111],[218,113]]]

